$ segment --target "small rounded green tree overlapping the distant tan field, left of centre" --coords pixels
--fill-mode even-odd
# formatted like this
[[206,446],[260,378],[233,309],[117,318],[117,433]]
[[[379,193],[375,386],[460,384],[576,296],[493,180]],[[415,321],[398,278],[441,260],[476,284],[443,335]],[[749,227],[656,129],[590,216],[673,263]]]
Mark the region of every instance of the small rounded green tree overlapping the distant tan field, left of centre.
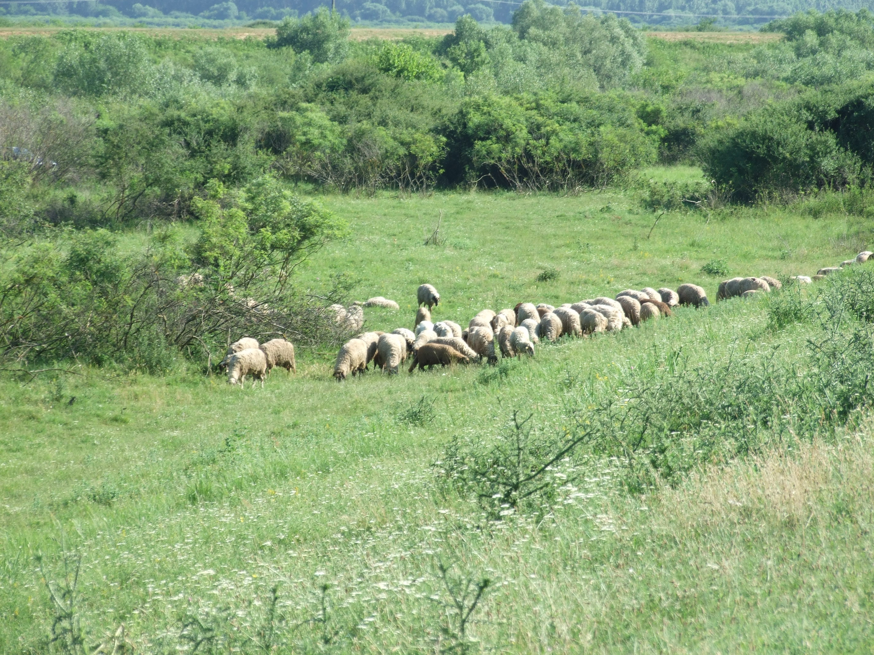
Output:
[[313,61],[336,63],[349,52],[349,18],[324,7],[302,18],[285,17],[276,28],[276,47],[309,52]]

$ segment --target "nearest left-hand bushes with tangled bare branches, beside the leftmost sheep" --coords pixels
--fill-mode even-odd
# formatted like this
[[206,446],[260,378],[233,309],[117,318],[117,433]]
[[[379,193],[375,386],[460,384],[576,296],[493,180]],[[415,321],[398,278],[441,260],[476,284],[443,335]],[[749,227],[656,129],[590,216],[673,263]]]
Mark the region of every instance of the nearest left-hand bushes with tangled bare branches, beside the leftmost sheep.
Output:
[[339,338],[324,307],[343,299],[343,281],[314,300],[291,274],[343,223],[270,177],[239,194],[218,181],[208,189],[193,203],[202,232],[190,248],[164,230],[125,254],[118,237],[98,230],[14,252],[0,276],[0,353],[156,370],[180,352],[215,362],[228,330],[302,343]]

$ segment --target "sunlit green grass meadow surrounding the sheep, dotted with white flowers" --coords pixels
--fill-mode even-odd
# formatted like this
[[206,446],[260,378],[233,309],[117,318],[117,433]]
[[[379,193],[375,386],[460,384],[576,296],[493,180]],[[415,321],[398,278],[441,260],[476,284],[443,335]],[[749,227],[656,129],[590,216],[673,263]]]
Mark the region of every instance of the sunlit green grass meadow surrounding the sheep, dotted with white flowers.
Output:
[[[711,260],[730,276],[812,274],[871,234],[861,219],[752,208],[665,214],[648,238],[657,215],[616,191],[323,202],[351,234],[302,279],[345,273],[357,298],[398,300],[367,310],[374,329],[413,327],[425,281],[443,296],[435,318],[463,323],[682,282],[715,300]],[[445,243],[423,245],[441,210]],[[341,384],[321,350],[263,390],[181,369],[3,378],[0,652],[64,652],[50,629],[73,615],[87,652],[870,652],[867,423],[704,462],[643,495],[593,445],[561,469],[582,472],[572,485],[503,521],[440,481],[453,438],[507,435],[514,410],[538,433],[571,430],[681,352],[687,367],[801,362],[819,327],[774,330],[767,305],[680,308],[531,360]],[[68,615],[45,589],[64,588],[65,552],[81,558]],[[465,585],[486,579],[462,625]]]

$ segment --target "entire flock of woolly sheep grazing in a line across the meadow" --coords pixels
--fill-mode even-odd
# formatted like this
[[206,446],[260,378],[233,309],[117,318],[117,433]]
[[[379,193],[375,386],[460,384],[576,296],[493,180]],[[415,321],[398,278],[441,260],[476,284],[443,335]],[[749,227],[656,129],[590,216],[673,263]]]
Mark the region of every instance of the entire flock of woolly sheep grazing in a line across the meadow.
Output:
[[[841,266],[822,268],[812,277],[796,275],[788,280],[810,284],[843,266],[863,263],[872,255],[874,253],[869,251],[860,252],[856,259],[848,259]],[[781,286],[780,280],[766,275],[726,279],[719,284],[717,300],[749,297]],[[499,312],[483,309],[468,321],[466,329],[462,329],[454,321],[431,321],[432,309],[440,304],[440,293],[434,286],[421,285],[417,300],[419,308],[413,330],[398,327],[391,333],[364,332],[346,341],[336,356],[334,377],[342,381],[364,373],[371,362],[374,369],[378,367],[389,374],[397,374],[400,365],[411,358],[410,373],[416,367],[433,369],[436,365],[447,366],[456,362],[484,360],[494,363],[497,361],[496,344],[503,357],[534,355],[534,346],[541,340],[556,341],[563,334],[580,337],[595,332],[618,332],[642,321],[669,316],[671,307],[707,307],[710,304],[704,289],[693,284],[680,285],[676,291],[649,287],[640,291],[626,289],[615,298],[601,296],[561,307],[520,302],[512,309],[508,307]],[[329,310],[336,314],[338,325],[355,331],[364,325],[362,307],[399,308],[394,300],[378,296],[364,303],[353,303],[348,308],[336,305]],[[251,376],[253,386],[260,380],[263,387],[270,369],[280,366],[289,372],[296,370],[295,347],[284,339],[259,344],[251,337],[244,337],[228,347],[221,366],[227,367],[229,383],[242,385],[246,376]]]

